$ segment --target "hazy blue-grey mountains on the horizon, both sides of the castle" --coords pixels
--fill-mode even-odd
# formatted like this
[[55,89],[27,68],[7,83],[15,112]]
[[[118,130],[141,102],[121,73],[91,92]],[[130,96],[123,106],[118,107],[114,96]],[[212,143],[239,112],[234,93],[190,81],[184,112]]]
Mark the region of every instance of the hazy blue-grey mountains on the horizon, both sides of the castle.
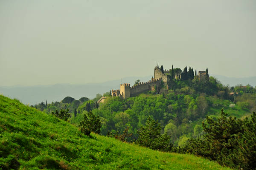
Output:
[[[247,78],[232,78],[220,75],[210,75],[217,78],[224,85],[235,86],[238,84],[247,85],[248,83],[253,87],[256,86],[256,77]],[[120,83],[131,83],[140,79],[141,82],[147,82],[151,76],[146,77],[126,77],[122,80],[111,80],[102,83],[87,83],[83,85],[71,84],[56,84],[56,85],[38,85],[38,86],[0,86],[0,94],[10,98],[19,99],[24,104],[35,105],[35,102],[48,103],[61,101],[66,96],[71,96],[75,99],[81,97],[88,97],[93,99],[96,94],[103,94],[111,89],[119,89]]]

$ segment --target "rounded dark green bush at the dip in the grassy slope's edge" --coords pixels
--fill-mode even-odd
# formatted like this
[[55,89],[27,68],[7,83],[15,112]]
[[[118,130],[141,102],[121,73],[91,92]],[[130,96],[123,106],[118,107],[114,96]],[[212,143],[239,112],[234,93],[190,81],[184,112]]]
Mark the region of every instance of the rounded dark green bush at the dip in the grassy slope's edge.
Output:
[[95,116],[91,111],[88,114],[84,114],[84,120],[80,122],[80,130],[85,135],[89,136],[91,132],[100,133],[102,124],[99,116]]

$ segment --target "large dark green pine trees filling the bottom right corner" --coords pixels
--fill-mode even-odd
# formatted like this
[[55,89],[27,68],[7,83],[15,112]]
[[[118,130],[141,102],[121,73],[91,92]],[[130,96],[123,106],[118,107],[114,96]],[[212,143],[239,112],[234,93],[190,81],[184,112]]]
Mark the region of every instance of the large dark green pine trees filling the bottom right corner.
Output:
[[207,116],[203,128],[206,132],[203,139],[190,139],[189,144],[184,147],[186,152],[238,169],[256,169],[255,112],[249,121],[227,117],[222,109],[218,120]]

